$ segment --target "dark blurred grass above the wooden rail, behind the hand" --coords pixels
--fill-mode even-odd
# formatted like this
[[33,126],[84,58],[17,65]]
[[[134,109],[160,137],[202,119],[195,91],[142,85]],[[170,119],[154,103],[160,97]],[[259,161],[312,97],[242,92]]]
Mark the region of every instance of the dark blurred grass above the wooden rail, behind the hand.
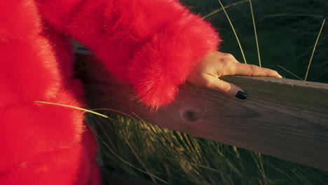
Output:
[[[259,65],[261,60],[262,67],[275,69],[287,78],[297,79],[288,72],[292,71],[304,80],[309,60],[313,56],[306,80],[328,83],[328,55],[326,54],[328,28],[322,27],[324,25],[322,22],[328,17],[327,1],[185,0],[184,2],[219,29],[224,40],[221,43],[221,51],[232,53],[240,62],[244,62],[245,58],[247,63]],[[318,39],[320,27],[322,32]],[[238,39],[235,35],[238,35]],[[317,43],[315,43],[316,39],[318,39]],[[259,58],[260,51],[261,58]]]

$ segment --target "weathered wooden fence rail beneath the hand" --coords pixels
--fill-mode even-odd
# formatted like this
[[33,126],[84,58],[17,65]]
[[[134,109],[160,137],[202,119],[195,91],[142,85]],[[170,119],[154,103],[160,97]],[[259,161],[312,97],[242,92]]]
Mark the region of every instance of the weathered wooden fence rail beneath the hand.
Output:
[[328,84],[225,76],[247,100],[186,84],[175,102],[151,113],[97,62],[81,66],[92,108],[134,112],[165,128],[328,170]]

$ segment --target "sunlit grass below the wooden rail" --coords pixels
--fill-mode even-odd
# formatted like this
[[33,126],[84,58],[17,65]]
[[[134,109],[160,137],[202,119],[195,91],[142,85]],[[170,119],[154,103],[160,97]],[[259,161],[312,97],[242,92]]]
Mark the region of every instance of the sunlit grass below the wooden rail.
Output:
[[95,116],[89,120],[102,136],[99,142],[104,165],[158,184],[323,185],[328,182],[328,172],[311,167],[131,117],[111,115],[109,118],[111,124]]

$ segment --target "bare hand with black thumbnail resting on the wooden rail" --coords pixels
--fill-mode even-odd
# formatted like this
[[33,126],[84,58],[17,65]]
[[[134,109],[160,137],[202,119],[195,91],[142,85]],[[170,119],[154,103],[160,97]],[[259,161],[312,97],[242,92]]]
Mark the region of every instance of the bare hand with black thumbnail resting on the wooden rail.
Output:
[[217,90],[231,97],[245,99],[247,95],[244,90],[233,83],[228,83],[219,79],[220,76],[226,75],[271,76],[282,78],[277,71],[272,69],[258,67],[252,64],[242,64],[231,54],[212,51],[207,53],[207,55],[196,64],[196,67],[191,71],[189,76],[187,76],[186,81]]

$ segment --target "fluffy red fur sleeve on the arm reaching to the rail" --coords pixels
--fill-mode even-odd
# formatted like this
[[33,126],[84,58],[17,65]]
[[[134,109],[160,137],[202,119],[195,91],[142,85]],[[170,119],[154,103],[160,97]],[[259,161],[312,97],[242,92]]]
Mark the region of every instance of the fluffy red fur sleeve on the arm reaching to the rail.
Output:
[[89,46],[150,107],[174,100],[219,36],[175,0],[39,1],[47,22]]

